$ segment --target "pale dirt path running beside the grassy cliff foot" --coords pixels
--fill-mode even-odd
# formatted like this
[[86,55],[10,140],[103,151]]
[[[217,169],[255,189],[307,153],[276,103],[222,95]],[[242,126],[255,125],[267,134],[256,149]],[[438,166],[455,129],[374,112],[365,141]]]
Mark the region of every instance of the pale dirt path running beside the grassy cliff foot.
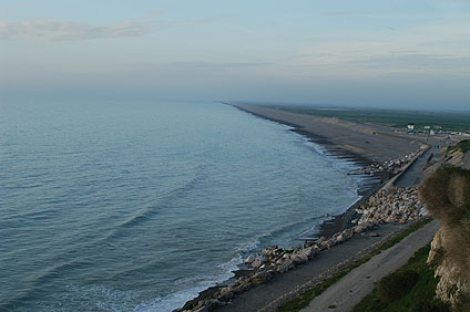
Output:
[[405,266],[419,248],[429,243],[439,227],[438,221],[435,220],[375,256],[315,298],[302,312],[350,311],[372,291],[375,282]]

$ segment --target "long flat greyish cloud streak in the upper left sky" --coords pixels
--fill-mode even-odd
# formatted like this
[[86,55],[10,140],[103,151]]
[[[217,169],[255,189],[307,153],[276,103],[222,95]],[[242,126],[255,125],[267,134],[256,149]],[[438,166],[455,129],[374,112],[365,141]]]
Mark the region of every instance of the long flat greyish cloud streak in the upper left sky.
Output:
[[32,38],[44,41],[141,37],[166,25],[155,22],[123,21],[109,25],[94,25],[63,20],[0,21],[0,39]]

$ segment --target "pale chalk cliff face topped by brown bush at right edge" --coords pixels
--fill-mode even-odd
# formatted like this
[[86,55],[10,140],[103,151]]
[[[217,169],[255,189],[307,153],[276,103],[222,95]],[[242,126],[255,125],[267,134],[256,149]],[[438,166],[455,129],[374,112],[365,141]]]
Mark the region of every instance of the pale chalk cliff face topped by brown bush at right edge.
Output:
[[439,168],[420,195],[429,212],[442,222],[428,258],[440,278],[436,297],[457,311],[470,311],[470,170]]

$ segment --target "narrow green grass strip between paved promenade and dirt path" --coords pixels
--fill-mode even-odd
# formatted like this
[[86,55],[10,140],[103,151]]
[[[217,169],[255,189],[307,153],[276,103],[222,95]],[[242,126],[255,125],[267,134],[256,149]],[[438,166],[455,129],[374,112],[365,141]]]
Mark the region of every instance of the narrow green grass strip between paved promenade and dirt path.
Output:
[[320,293],[323,293],[328,287],[330,287],[334,283],[336,283],[339,279],[341,279],[344,275],[346,275],[347,273],[349,273],[351,270],[354,270],[357,267],[366,263],[374,256],[376,256],[376,254],[380,253],[381,251],[384,251],[384,250],[392,247],[394,245],[396,245],[397,242],[399,242],[400,240],[402,240],[403,238],[406,238],[408,235],[410,235],[411,232],[418,230],[419,228],[423,227],[425,225],[429,223],[430,221],[431,221],[431,219],[427,218],[425,220],[421,220],[419,222],[416,222],[415,225],[412,225],[411,227],[409,227],[408,229],[406,229],[405,231],[402,231],[400,235],[398,235],[397,237],[395,237],[394,239],[389,240],[388,242],[386,242],[380,248],[378,248],[375,251],[372,251],[371,253],[369,253],[367,257],[365,257],[365,258],[356,261],[355,263],[348,266],[347,268],[345,268],[341,271],[339,271],[336,274],[334,274],[331,278],[329,278],[329,279],[320,282],[315,288],[306,291],[304,294],[299,295],[298,298],[296,298],[296,299],[294,299],[292,301],[286,302],[284,305],[282,305],[278,309],[278,311],[279,312],[295,312],[295,311],[300,311],[302,309],[306,308],[315,297],[317,297]]

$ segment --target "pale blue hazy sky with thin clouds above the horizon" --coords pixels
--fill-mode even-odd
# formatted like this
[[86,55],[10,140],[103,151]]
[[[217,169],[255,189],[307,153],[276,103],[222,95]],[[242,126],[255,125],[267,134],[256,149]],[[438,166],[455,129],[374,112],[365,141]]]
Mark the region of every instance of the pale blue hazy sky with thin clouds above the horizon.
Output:
[[470,0],[0,0],[3,96],[470,110]]

